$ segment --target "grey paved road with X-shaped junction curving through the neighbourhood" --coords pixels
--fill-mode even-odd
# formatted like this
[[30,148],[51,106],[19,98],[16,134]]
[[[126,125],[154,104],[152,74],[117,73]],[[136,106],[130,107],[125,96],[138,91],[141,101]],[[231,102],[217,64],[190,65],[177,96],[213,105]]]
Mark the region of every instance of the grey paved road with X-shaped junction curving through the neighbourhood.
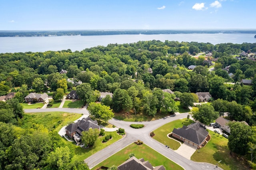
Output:
[[[61,112],[69,112],[69,113],[83,113],[85,115],[89,115],[86,109],[68,109],[68,108],[47,108],[47,109],[26,109],[26,113],[39,113],[39,112],[52,112],[52,111],[61,111]],[[174,117],[165,117],[163,119],[159,119],[156,121],[147,121],[147,122],[140,122],[140,124],[145,125],[144,128],[141,129],[134,129],[131,128],[130,124],[136,124],[137,122],[125,122],[119,121],[116,119],[112,119],[109,121],[110,124],[115,125],[116,127],[124,128],[126,132],[126,136],[121,140],[118,140],[114,144],[96,152],[95,154],[91,155],[90,157],[86,158],[84,161],[88,164],[89,168],[93,168],[109,156],[115,154],[116,152],[122,150],[129,144],[133,143],[136,140],[142,140],[144,144],[150,146],[157,152],[161,153],[162,155],[166,156],[170,160],[176,162],[180,166],[182,166],[185,170],[205,170],[205,169],[214,169],[215,165],[208,164],[208,163],[198,163],[193,162],[192,160],[188,160],[177,154],[170,148],[166,148],[163,144],[159,143],[158,141],[152,139],[150,137],[150,132],[154,129],[169,123],[171,121],[175,121],[178,119],[186,118],[188,113],[177,114]]]

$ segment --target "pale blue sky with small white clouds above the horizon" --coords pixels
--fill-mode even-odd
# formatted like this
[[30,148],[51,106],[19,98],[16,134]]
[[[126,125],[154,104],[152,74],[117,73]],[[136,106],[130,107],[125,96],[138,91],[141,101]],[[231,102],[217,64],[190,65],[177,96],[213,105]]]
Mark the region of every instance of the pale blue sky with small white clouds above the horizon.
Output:
[[256,0],[0,0],[0,30],[256,29]]

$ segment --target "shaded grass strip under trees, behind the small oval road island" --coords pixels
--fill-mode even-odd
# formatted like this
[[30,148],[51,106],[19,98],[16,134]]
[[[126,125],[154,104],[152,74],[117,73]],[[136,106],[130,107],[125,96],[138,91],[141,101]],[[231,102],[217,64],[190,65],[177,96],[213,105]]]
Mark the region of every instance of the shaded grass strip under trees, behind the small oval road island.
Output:
[[130,113],[130,114],[115,113],[114,119],[118,119],[120,121],[126,121],[126,122],[141,122],[141,121],[154,121],[166,116],[170,116],[170,115],[157,113],[155,117],[149,117],[149,116],[143,115],[142,113],[139,113],[136,115],[134,113]]

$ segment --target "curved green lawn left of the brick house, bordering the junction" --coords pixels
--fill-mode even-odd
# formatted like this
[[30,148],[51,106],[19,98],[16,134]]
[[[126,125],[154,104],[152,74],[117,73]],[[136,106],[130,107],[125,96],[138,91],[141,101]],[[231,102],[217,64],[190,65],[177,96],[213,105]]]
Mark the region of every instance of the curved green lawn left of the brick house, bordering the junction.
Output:
[[167,134],[172,132],[173,128],[179,128],[183,125],[189,125],[192,122],[193,121],[190,119],[180,119],[167,123],[162,127],[159,127],[156,130],[154,130],[155,136],[153,138],[164,145],[170,146],[171,149],[176,150],[180,147],[180,143],[177,142],[176,140],[173,140],[172,138],[168,138]]

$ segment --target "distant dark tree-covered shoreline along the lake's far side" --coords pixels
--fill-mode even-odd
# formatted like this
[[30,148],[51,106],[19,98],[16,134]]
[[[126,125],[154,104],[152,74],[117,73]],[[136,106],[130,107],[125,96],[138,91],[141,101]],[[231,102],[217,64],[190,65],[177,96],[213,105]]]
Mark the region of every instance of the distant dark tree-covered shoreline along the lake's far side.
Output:
[[154,34],[256,34],[256,30],[68,30],[68,31],[0,31],[0,37],[104,36]]

